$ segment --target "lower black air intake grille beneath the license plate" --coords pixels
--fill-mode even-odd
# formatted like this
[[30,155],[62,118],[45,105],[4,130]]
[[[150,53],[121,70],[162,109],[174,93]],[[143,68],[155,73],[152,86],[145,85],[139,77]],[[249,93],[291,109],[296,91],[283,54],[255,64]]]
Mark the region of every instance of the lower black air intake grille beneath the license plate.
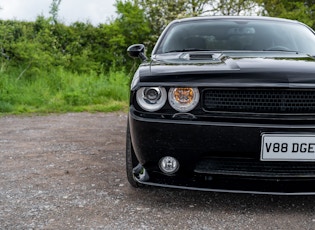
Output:
[[195,172],[250,177],[315,178],[315,162],[272,162],[248,159],[210,158],[200,161]]

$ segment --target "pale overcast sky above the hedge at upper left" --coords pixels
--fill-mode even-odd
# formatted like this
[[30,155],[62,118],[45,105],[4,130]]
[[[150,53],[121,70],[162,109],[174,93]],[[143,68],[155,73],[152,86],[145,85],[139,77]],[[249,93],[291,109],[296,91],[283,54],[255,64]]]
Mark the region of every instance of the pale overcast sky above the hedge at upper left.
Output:
[[[35,21],[38,15],[49,17],[52,0],[0,0],[0,19]],[[115,16],[115,0],[61,0],[59,19],[66,23],[106,23]]]

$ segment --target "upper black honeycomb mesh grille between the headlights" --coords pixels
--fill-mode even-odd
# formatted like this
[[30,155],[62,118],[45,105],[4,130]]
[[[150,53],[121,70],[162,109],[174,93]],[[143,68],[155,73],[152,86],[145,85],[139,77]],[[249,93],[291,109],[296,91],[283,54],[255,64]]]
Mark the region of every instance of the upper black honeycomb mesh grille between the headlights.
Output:
[[315,113],[312,89],[206,89],[207,111],[247,113]]

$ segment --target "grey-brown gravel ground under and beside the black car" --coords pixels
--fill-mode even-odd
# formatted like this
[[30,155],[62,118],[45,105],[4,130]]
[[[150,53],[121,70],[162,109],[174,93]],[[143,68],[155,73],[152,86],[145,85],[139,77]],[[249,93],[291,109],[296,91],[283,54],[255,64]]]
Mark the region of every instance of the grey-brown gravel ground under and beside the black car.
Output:
[[0,229],[315,229],[314,196],[133,189],[124,113],[0,118]]

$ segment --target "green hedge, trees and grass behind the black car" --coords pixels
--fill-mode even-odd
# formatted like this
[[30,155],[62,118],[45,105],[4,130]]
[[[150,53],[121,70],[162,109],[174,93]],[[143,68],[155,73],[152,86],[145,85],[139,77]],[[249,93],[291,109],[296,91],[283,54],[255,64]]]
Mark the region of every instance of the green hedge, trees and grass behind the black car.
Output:
[[58,18],[60,3],[52,0],[50,17],[34,22],[0,20],[0,114],[126,109],[139,64],[127,47],[143,43],[149,56],[176,18],[266,15],[315,27],[311,0],[117,0],[117,17],[97,26],[65,25]]

